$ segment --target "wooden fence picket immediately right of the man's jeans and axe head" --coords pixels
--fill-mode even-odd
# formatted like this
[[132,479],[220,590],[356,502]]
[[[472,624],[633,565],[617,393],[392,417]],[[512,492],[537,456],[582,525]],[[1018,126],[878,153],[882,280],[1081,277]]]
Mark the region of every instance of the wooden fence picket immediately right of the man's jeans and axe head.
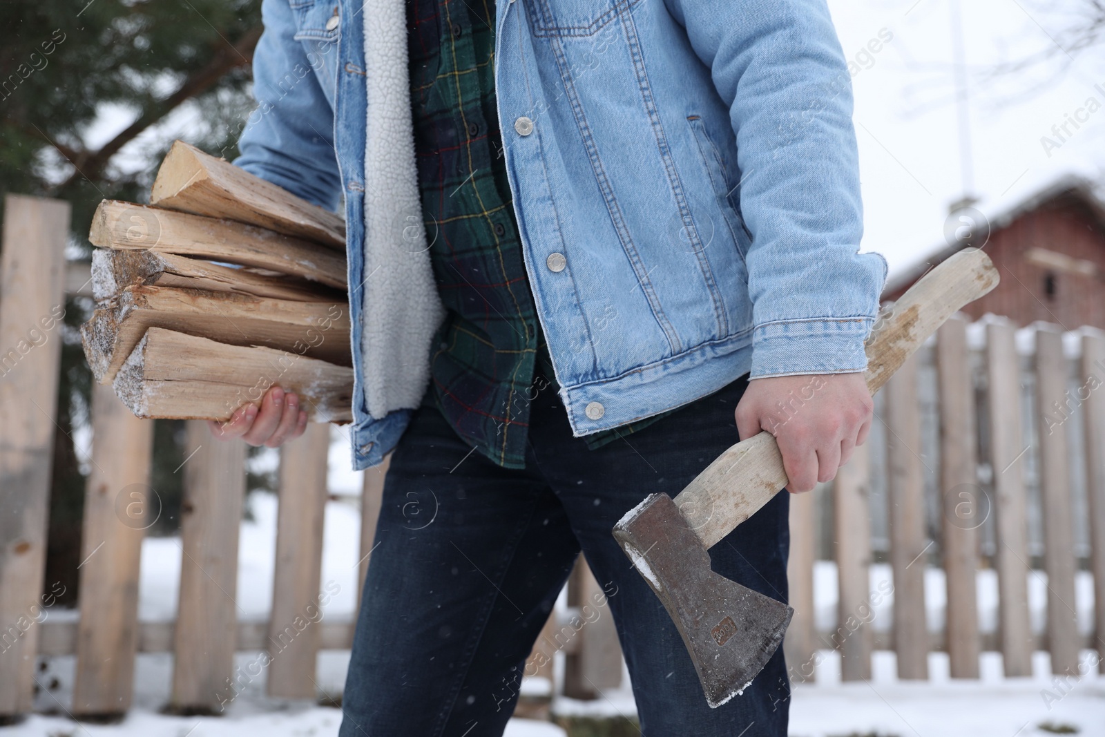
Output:
[[782,640],[783,654],[792,681],[813,681],[818,650],[813,621],[813,564],[817,560],[818,492],[790,494],[790,555],[787,558],[787,589],[794,614]]

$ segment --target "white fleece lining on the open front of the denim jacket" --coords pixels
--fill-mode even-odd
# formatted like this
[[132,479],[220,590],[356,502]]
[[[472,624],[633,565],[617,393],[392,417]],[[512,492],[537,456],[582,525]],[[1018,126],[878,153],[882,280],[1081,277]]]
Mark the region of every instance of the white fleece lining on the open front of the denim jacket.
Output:
[[414,164],[406,3],[366,0],[365,284],[361,364],[368,412],[417,408],[444,317],[430,266]]

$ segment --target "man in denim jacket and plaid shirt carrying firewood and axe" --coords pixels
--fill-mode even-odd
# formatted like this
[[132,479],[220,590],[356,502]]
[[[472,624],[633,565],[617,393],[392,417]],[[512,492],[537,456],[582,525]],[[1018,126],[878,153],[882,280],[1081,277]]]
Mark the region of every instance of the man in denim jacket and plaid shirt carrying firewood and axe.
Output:
[[[355,465],[393,451],[341,735],[502,734],[580,549],[645,735],[786,735],[781,650],[709,709],[610,530],[738,435],[776,435],[791,492],[866,436],[885,262],[823,0],[263,9],[236,164],[344,196]],[[219,431],[278,445],[297,402]],[[785,600],[787,508],[714,568]]]

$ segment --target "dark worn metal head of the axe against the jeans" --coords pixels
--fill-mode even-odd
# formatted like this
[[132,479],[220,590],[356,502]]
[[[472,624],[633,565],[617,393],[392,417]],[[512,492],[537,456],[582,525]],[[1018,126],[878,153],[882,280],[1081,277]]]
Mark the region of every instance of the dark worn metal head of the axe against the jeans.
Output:
[[706,546],[666,494],[638,505],[613,535],[683,635],[709,706],[744,693],[794,610],[715,573]]

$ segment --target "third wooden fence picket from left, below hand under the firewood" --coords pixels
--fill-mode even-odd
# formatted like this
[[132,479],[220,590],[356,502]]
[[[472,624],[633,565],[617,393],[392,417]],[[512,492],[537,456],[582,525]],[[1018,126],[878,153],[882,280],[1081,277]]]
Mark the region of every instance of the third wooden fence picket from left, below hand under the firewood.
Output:
[[215,440],[206,422],[189,420],[185,450],[180,603],[169,708],[218,713],[252,678],[233,677],[245,443]]

